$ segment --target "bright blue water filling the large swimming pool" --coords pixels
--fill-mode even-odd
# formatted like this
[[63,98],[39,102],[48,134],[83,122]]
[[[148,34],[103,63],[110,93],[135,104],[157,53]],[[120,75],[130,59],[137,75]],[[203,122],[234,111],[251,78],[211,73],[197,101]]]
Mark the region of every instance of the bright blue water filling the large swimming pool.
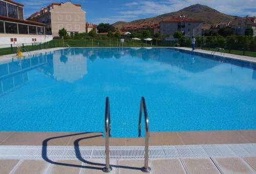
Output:
[[[256,71],[172,48],[71,48],[0,64],[0,131],[137,137],[140,98],[150,131],[256,129]],[[251,66],[252,64],[250,64]]]

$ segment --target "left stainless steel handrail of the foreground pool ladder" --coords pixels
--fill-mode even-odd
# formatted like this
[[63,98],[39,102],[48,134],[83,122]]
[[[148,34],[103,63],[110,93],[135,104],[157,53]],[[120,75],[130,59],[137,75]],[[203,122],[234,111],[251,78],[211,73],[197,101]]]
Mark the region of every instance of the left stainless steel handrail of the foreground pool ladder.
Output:
[[110,172],[110,137],[111,137],[111,120],[110,120],[110,99],[106,97],[105,104],[105,160],[106,166],[103,168],[104,172]]

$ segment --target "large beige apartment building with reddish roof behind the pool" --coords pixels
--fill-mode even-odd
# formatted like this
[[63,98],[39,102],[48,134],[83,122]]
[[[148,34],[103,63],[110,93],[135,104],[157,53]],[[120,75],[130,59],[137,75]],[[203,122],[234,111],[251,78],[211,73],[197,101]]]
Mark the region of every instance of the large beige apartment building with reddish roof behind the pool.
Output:
[[82,10],[81,5],[71,2],[52,3],[32,14],[28,20],[45,23],[46,34],[53,37],[57,37],[62,28],[70,35],[86,32],[86,11]]

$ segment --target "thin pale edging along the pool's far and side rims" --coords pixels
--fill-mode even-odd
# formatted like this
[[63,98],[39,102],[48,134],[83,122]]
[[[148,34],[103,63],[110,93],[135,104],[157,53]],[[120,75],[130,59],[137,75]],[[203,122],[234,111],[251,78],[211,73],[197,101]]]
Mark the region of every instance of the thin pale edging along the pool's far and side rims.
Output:
[[[154,46],[152,46],[153,48]],[[31,51],[30,53],[32,55],[36,55],[36,54],[42,54],[42,53],[48,53],[48,52],[53,52],[53,51],[57,51],[60,49],[67,49],[68,47],[56,47],[56,48],[49,48],[49,49],[40,49],[37,51]],[[135,48],[135,47],[72,47],[72,48]],[[148,48],[148,47],[140,47],[140,48]],[[191,48],[188,47],[166,47],[166,46],[158,46],[158,47],[154,47],[154,48],[174,48],[174,49],[180,49],[182,51],[189,51],[189,53],[197,53],[197,54],[206,54],[206,55],[210,55],[213,57],[222,57],[222,58],[229,58],[229,59],[233,59],[233,60],[239,60],[239,61],[245,61],[245,62],[251,62],[251,63],[256,63],[256,58],[254,57],[249,57],[249,56],[240,56],[240,55],[233,55],[233,54],[221,54],[219,52],[216,52],[214,55],[212,54],[212,51],[207,51],[207,50],[203,50],[203,49],[196,49],[195,51],[191,51]],[[28,53],[23,53],[25,57],[28,57],[29,54]],[[3,62],[8,62],[10,60],[17,60],[18,58],[16,58],[16,54],[11,54],[11,55],[4,55],[4,56],[0,56],[0,63]]]

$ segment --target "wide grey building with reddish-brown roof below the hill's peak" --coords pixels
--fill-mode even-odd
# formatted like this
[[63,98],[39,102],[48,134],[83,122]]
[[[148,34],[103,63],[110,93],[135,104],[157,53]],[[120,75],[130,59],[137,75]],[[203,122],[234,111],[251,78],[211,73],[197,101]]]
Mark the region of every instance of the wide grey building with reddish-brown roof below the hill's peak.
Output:
[[161,35],[172,37],[176,31],[181,31],[185,37],[202,36],[201,20],[190,18],[169,18],[160,22]]

